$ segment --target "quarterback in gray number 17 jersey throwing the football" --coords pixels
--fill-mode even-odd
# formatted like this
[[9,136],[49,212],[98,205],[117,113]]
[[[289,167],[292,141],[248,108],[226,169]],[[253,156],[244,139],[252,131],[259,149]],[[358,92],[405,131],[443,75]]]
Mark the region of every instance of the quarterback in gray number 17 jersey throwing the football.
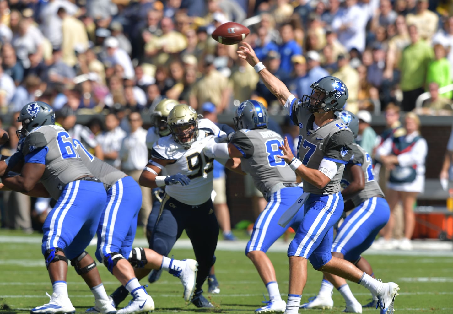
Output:
[[335,111],[342,111],[348,98],[347,87],[337,77],[322,77],[311,85],[311,95],[296,99],[277,77],[272,75],[256,57],[250,44],[238,48],[239,58],[245,59],[258,72],[260,79],[299,126],[298,157],[293,156],[285,138],[280,146],[282,155],[291,169],[302,178],[305,191],[310,195],[304,203],[304,219],[288,249],[289,294],[286,314],[297,314],[307,278],[307,262],[318,271],[358,282],[379,298],[382,314],[393,311],[397,284],[382,283],[352,263],[331,254],[333,225],[343,211],[340,180],[345,164],[352,156],[354,135]]

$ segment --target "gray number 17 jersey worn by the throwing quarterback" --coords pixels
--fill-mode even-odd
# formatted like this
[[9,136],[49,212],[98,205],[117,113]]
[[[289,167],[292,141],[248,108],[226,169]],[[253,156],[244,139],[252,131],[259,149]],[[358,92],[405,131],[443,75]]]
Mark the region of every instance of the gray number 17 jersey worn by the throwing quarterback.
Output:
[[322,189],[304,179],[304,190],[313,194],[334,194],[340,191],[340,180],[345,164],[352,156],[354,135],[341,118],[313,130],[314,115],[300,106],[300,100],[292,104],[291,118],[299,125],[299,159],[311,169],[319,169],[321,160],[327,159],[340,164],[332,180]]

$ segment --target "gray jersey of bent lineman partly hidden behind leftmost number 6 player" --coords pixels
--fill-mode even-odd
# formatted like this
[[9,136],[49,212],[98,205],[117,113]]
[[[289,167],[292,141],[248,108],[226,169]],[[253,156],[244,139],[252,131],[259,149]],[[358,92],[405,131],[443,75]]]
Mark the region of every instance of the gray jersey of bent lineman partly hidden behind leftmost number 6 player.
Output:
[[91,155],[79,140],[73,139],[72,141],[74,142],[74,147],[77,150],[77,154],[82,158],[83,163],[97,179],[101,180],[106,191],[111,188],[116,181],[126,176],[121,170],[118,170],[110,164],[107,164],[105,161]]

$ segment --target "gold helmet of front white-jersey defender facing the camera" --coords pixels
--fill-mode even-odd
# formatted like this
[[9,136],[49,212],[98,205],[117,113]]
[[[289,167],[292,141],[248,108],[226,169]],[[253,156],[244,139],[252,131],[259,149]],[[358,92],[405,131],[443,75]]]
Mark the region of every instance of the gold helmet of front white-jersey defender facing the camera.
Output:
[[198,137],[198,114],[195,109],[186,104],[174,106],[167,119],[168,128],[176,143],[186,149]]

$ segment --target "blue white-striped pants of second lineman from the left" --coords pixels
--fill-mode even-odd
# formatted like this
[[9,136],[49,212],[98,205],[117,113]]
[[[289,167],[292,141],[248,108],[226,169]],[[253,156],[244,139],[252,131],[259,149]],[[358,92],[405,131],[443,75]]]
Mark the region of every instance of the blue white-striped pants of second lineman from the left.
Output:
[[112,252],[129,258],[141,203],[140,185],[130,176],[119,179],[107,191],[107,203],[96,232],[98,261]]

